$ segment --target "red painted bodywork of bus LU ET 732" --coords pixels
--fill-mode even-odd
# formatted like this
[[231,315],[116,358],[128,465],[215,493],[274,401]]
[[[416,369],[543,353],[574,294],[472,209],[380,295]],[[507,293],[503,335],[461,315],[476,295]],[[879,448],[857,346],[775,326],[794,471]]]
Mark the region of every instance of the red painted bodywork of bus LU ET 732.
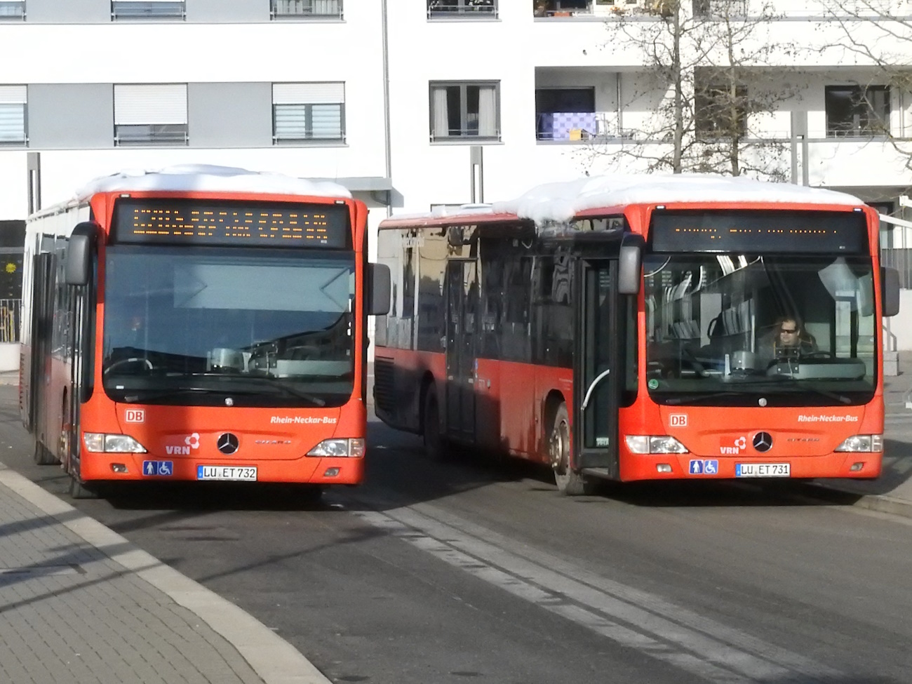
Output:
[[[94,220],[102,233],[109,233],[114,202],[122,192],[99,192],[90,199]],[[352,243],[355,255],[354,382],[347,403],[335,408],[267,408],[267,407],[199,407],[176,405],[143,405],[121,403],[110,399],[102,384],[103,325],[105,321],[105,240],[98,246],[98,293],[95,310],[93,391],[80,407],[80,420],[75,439],[83,440],[86,432],[124,434],[138,440],[146,453],[92,452],[80,450],[78,476],[83,482],[135,480],[197,480],[197,466],[255,466],[257,481],[307,482],[315,484],[358,484],[364,478],[364,458],[306,456],[319,442],[328,439],[363,440],[367,434],[365,330],[365,277],[367,206],[350,198],[307,197],[272,193],[245,192],[129,192],[130,198],[248,200],[255,202],[332,203],[344,199],[349,209]],[[72,226],[70,226],[72,228]],[[24,326],[28,323],[24,323]],[[20,355],[20,378],[26,377],[26,364],[31,348],[23,347]],[[40,424],[33,426],[36,438],[61,461],[67,472],[74,464],[67,460],[64,424],[65,398],[72,391],[71,360],[54,355],[47,357],[41,378],[29,378],[31,385],[42,383],[45,398],[39,411]],[[23,388],[20,388],[20,411],[26,415]],[[140,420],[141,416],[141,420]],[[216,440],[226,432],[237,436],[239,447],[231,455],[216,448]],[[143,461],[171,461],[172,474],[154,476],[143,473]],[[115,472],[112,464],[126,466]],[[326,474],[335,469],[335,474]]]

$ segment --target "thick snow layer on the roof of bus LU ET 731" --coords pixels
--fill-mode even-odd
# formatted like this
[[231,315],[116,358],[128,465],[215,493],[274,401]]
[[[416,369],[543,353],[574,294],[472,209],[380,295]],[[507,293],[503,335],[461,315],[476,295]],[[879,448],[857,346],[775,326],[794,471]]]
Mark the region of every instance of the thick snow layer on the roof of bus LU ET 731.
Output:
[[862,206],[845,192],[743,176],[703,173],[616,174],[545,183],[508,202],[494,202],[493,213],[513,213],[535,223],[561,223],[587,209],[625,204],[673,202],[773,202]]

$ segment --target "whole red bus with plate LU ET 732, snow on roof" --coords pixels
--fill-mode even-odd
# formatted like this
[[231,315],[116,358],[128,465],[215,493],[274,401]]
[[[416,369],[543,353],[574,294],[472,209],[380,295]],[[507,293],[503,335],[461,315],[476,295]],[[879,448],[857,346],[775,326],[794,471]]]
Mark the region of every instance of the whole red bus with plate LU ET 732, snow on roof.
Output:
[[108,481],[360,482],[367,320],[389,302],[367,217],[335,183],[202,166],[115,174],[30,216],[35,461],[59,461],[77,498]]

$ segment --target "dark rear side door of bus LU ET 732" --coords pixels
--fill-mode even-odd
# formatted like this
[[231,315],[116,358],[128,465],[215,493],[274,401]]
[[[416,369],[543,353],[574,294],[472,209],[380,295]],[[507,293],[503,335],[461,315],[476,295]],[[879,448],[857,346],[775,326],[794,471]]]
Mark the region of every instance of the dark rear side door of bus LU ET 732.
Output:
[[54,314],[52,254],[36,254],[32,262],[32,306],[30,321],[31,358],[28,360],[28,417],[26,428],[41,436],[47,412],[47,383],[51,356],[51,320]]

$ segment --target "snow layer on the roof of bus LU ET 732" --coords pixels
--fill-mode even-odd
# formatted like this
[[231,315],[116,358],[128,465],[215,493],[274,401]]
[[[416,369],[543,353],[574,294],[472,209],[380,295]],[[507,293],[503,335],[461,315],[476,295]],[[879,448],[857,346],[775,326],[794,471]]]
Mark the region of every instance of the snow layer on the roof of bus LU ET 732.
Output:
[[231,166],[182,164],[155,171],[128,170],[96,178],[76,192],[80,202],[96,192],[267,192],[283,195],[350,198],[332,181],[310,181],[282,173],[247,171]]

